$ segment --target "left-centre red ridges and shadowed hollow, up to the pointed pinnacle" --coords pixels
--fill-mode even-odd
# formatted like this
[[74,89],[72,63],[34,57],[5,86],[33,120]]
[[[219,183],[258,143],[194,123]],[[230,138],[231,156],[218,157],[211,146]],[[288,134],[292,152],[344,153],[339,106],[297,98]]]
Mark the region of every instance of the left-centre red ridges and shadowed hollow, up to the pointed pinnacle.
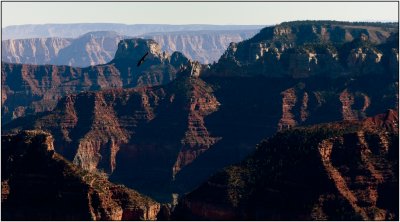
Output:
[[193,63],[164,87],[68,95],[53,112],[17,119],[5,129],[45,129],[55,136],[57,152],[85,170],[102,169],[128,185],[160,188],[143,178],[150,177],[168,188],[181,168],[218,140],[203,119],[219,103],[209,86],[190,77],[200,68]]

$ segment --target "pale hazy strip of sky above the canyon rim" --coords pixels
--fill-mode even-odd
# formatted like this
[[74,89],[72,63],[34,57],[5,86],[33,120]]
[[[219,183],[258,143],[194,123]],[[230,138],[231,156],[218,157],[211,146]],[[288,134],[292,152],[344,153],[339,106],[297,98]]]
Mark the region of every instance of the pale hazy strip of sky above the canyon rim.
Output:
[[397,2],[2,2],[2,27],[21,24],[260,24],[397,21]]

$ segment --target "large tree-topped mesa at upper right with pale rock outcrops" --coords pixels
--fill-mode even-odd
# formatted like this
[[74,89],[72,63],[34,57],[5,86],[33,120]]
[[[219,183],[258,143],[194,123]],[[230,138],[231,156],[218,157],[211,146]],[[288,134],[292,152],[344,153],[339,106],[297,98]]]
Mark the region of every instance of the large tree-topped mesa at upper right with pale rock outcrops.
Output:
[[225,75],[226,67],[235,67],[234,74],[241,76],[305,78],[381,73],[387,69],[382,59],[393,57],[384,48],[398,48],[393,38],[397,35],[395,26],[379,24],[282,23],[262,29],[249,40],[232,43],[213,67],[214,75]]

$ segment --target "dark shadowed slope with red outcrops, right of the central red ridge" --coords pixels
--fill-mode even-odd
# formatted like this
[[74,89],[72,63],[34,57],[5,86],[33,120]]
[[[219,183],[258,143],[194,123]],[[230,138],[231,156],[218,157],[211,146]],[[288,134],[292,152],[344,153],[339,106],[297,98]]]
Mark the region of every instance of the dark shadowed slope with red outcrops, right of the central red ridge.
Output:
[[[301,81],[267,77],[207,77],[221,104],[205,126],[221,139],[176,176],[190,190],[229,163],[238,162],[257,141],[277,130],[339,120],[362,119],[398,109],[397,81],[381,76]],[[196,177],[193,177],[196,175]],[[189,180],[190,178],[190,180]]]

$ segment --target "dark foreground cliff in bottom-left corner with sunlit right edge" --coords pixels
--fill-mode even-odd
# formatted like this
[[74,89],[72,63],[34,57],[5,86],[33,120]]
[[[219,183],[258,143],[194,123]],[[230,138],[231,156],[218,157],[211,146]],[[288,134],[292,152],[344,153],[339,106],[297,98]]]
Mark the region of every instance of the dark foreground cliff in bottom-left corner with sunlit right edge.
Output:
[[54,151],[43,131],[2,136],[5,220],[155,220],[160,205]]

